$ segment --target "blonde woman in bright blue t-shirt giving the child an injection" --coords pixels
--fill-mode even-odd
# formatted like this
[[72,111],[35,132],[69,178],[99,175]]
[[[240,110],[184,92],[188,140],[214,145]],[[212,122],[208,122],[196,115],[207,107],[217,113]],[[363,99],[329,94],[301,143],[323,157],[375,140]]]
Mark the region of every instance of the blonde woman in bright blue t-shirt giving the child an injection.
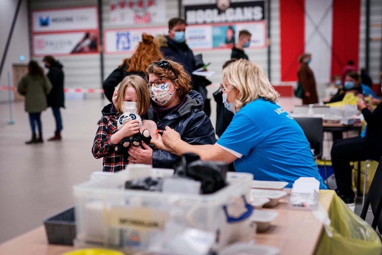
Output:
[[278,106],[279,94],[259,65],[238,60],[223,70],[223,102],[235,116],[215,145],[189,145],[166,127],[152,143],[182,155],[199,154],[202,160],[234,162],[236,172],[250,172],[255,180],[288,182],[314,177],[326,189],[308,140],[298,123]]

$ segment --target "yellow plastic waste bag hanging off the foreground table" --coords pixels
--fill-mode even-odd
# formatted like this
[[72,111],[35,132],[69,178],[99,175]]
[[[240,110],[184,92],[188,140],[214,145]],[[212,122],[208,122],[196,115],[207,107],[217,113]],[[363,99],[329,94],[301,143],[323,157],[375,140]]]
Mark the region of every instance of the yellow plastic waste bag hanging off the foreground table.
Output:
[[333,236],[329,237],[324,230],[317,255],[380,255],[382,244],[377,232],[337,195],[333,195],[328,214]]

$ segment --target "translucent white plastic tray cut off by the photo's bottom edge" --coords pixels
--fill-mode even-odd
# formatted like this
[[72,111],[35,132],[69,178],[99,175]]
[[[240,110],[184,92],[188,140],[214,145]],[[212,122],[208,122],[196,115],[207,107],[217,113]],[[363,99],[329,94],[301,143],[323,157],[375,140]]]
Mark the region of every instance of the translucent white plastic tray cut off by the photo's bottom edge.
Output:
[[269,245],[249,245],[246,243],[235,243],[228,245],[219,252],[219,255],[238,255],[238,254],[256,254],[256,255],[278,255],[280,249]]

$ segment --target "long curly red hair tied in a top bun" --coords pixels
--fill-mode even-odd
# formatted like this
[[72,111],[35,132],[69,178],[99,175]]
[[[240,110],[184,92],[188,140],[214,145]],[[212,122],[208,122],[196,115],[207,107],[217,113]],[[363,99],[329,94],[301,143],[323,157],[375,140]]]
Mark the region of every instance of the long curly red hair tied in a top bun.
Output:
[[143,33],[142,41],[139,42],[134,54],[123,60],[119,67],[126,66],[127,72],[143,73],[150,63],[163,58],[160,53],[158,42],[152,35]]

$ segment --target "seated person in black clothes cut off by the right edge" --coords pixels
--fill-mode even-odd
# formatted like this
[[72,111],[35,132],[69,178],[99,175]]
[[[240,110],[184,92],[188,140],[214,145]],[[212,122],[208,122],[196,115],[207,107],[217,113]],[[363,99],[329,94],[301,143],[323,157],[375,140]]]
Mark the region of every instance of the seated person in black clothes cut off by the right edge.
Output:
[[357,108],[367,123],[365,136],[337,140],[331,151],[338,195],[349,206],[355,203],[350,162],[366,159],[379,161],[382,156],[382,104],[375,98],[371,98],[371,103],[377,108],[373,110],[361,99],[357,102]]

